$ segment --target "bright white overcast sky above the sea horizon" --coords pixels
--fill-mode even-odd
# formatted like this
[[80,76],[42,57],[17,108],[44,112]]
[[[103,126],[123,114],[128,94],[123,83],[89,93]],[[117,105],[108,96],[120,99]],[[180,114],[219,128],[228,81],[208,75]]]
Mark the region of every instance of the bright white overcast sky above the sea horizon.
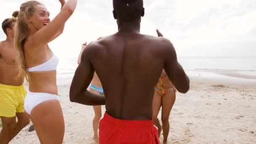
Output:
[[[26,0],[0,0],[1,22]],[[39,0],[51,12],[59,0]],[[144,0],[141,33],[158,28],[178,56],[256,57],[256,0]],[[78,0],[63,34],[50,43],[60,57],[77,57],[81,44],[117,32],[112,0]],[[0,30],[0,40],[4,40]]]

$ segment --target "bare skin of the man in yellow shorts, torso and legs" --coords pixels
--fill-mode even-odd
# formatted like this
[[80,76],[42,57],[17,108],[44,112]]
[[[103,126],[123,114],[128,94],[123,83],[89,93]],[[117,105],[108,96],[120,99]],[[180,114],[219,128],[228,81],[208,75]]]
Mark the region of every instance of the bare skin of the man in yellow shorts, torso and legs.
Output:
[[[24,83],[24,72],[21,69],[19,53],[13,46],[15,25],[16,22],[13,22],[12,29],[7,29],[6,40],[0,42],[0,84],[20,86]],[[3,124],[0,131],[0,144],[8,144],[22,128],[29,124],[29,117],[25,112],[17,112],[14,117],[1,116],[0,118]]]

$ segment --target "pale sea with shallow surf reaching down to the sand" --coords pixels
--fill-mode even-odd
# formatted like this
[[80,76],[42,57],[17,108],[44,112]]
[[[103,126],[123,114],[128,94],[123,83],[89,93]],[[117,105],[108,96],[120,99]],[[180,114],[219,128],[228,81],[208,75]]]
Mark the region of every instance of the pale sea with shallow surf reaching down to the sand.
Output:
[[[199,75],[203,72],[215,77],[216,74],[212,73],[213,71],[228,71],[256,76],[256,58],[180,57],[178,61],[190,76]],[[77,58],[60,58],[57,76],[59,78],[72,78],[77,66]],[[221,75],[218,75],[218,77],[221,77]]]

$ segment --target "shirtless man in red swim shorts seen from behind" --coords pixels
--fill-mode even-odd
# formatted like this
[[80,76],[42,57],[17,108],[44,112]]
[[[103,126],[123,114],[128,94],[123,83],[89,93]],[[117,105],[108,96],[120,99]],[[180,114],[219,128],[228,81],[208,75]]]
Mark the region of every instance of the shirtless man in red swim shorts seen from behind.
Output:
[[[189,90],[189,78],[176,57],[171,42],[141,35],[143,0],[113,0],[118,32],[87,46],[82,53],[71,87],[70,101],[106,105],[99,123],[99,142],[109,144],[160,144],[152,121],[155,85],[165,69],[181,93]],[[105,96],[86,89],[96,72]]]

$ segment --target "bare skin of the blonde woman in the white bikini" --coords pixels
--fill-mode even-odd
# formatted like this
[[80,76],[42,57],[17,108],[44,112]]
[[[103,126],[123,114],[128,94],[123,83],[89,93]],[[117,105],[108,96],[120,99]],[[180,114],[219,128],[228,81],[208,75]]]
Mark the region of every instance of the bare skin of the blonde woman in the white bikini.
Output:
[[[51,21],[44,5],[32,5],[32,16],[24,18],[29,36],[24,40],[24,57],[27,68],[36,67],[48,61],[53,52],[48,46],[64,30],[64,24],[75,11],[77,0],[59,0],[61,11]],[[29,91],[58,95],[56,70],[29,72]],[[29,115],[41,144],[62,144],[64,138],[64,117],[60,102],[56,99],[37,104]]]

